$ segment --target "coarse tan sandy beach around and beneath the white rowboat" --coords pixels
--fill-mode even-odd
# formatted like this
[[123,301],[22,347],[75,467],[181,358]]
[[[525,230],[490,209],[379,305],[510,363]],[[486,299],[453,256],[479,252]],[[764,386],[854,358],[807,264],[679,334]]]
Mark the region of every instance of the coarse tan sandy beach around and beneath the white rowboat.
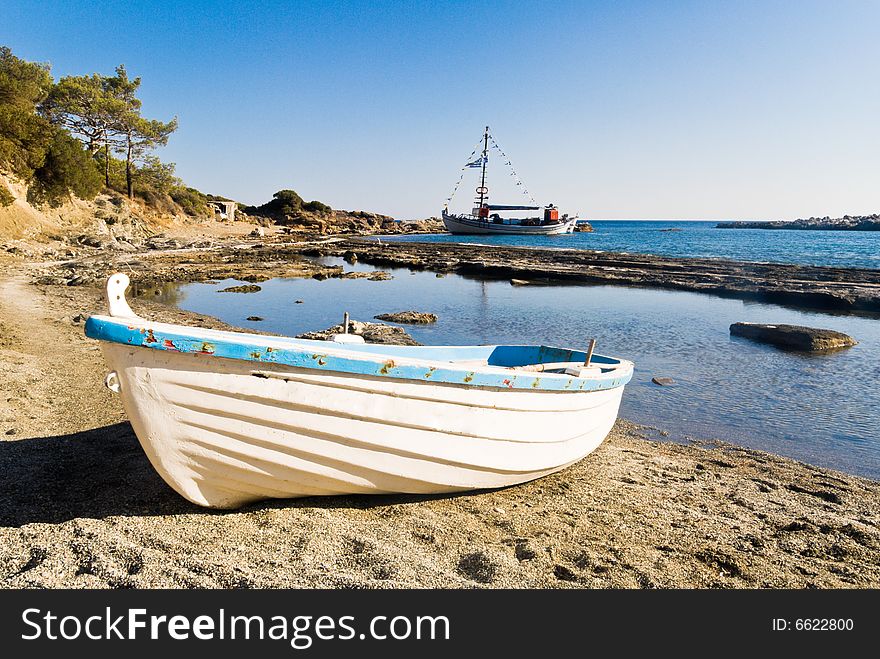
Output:
[[[263,255],[248,266],[257,278],[277,276],[259,247],[248,251]],[[178,257],[165,274],[150,265],[161,250],[126,258],[145,282],[241,266],[211,253],[222,258],[210,267]],[[581,462],[504,490],[197,508],[155,473],[103,386],[81,314],[104,309],[95,284],[115,264],[90,258],[0,261],[4,587],[880,586],[880,484],[715,442],[657,441],[657,429],[625,420]],[[63,281],[59,272],[88,276],[32,283]],[[133,307],[223,327],[142,299]]]

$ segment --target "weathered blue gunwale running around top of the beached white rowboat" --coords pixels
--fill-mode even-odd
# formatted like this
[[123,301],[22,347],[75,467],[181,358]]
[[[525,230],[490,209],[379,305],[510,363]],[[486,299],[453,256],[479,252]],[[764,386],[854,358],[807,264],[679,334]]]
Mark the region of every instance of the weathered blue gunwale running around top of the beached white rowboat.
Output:
[[[85,325],[86,336],[132,347],[151,348],[251,361],[258,364],[277,364],[317,371],[351,375],[387,377],[430,384],[449,384],[466,387],[501,390],[525,390],[534,393],[577,393],[615,389],[626,385],[633,374],[632,362],[594,355],[592,363],[605,367],[600,374],[577,377],[563,373],[530,373],[511,368],[468,364],[457,366],[454,361],[407,357],[405,346],[387,346],[387,352],[376,346],[337,344],[328,341],[293,339],[246,332],[228,332],[196,328],[186,325],[154,323],[141,318],[90,316]],[[545,346],[462,346],[461,350],[481,349],[491,354],[498,348],[539,348],[568,352],[575,359],[584,359],[585,353]],[[418,346],[412,351],[438,353],[447,346]],[[555,361],[555,360],[554,360]],[[255,373],[256,374],[256,373]]]

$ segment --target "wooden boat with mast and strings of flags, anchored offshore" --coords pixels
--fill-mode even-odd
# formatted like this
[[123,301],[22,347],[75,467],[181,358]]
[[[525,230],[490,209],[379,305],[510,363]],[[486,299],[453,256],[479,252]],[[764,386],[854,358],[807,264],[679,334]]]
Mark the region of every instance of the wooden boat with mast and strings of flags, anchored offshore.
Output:
[[[507,160],[507,165],[511,167],[511,175],[514,177],[515,184],[520,187],[523,193],[530,199],[532,202],[531,205],[489,203],[489,188],[486,187],[486,166],[489,163],[490,141],[492,143],[492,148],[497,151],[498,155]],[[489,133],[488,126],[486,126],[486,130],[483,133],[482,151],[480,152],[480,156],[475,159],[474,156],[476,155],[477,150],[478,149],[474,149],[468,158],[467,163],[462,167],[462,174],[458,179],[458,183],[456,183],[452,194],[447,197],[446,204],[443,207],[443,224],[446,225],[446,229],[450,233],[480,235],[506,234],[520,236],[551,236],[564,233],[574,233],[578,218],[569,217],[567,214],[560,217],[559,209],[553,204],[538,206],[534,203],[534,197],[529,194],[525,185],[513,170],[513,166],[511,165],[510,160],[507,159],[507,155],[501,150],[501,147],[498,146],[498,143],[495,142],[495,139]],[[474,206],[470,213],[450,213],[449,204],[461,185],[462,179],[464,178],[464,172],[471,168],[481,169],[480,185],[476,188],[477,196],[474,200]],[[539,211],[539,214],[535,215],[535,211]],[[509,215],[509,213],[521,212],[525,212],[526,216],[516,217]],[[502,216],[501,213],[508,215]]]

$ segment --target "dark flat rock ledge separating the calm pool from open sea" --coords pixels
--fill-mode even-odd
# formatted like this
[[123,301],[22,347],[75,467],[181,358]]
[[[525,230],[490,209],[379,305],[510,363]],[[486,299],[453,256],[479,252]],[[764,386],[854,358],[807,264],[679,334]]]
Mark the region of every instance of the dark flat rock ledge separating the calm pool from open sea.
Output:
[[381,267],[522,282],[614,284],[712,293],[808,309],[880,311],[880,270],[573,249],[344,239],[308,245],[310,256],[357,254]]

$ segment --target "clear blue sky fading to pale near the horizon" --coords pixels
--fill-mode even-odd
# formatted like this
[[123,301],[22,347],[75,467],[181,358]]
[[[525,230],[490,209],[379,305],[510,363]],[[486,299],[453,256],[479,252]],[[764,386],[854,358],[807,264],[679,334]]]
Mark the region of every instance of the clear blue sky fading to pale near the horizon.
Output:
[[586,217],[880,212],[878,32],[877,0],[0,8],[0,44],[56,77],[142,76],[190,185],[400,218],[439,213],[486,124]]

